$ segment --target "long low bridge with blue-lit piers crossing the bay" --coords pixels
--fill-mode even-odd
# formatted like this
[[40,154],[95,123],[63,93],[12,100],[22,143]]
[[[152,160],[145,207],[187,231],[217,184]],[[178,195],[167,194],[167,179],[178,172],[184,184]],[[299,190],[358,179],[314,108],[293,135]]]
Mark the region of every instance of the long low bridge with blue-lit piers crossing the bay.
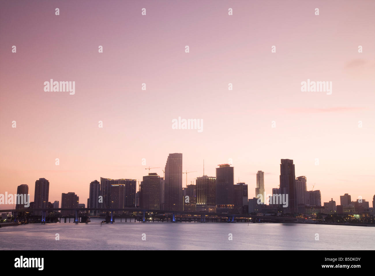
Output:
[[[143,213],[143,221],[145,221],[145,214],[146,213],[159,213],[159,214],[171,214],[172,215],[172,222],[176,221],[176,214],[177,215],[190,215],[190,216],[199,216],[201,218],[201,222],[205,222],[206,216],[208,217],[221,217],[221,218],[228,218],[228,222],[234,222],[234,218],[245,218],[245,219],[255,219],[255,220],[266,220],[270,222],[296,222],[297,219],[293,217],[277,217],[277,216],[255,216],[255,215],[247,215],[247,214],[223,214],[223,213],[211,213],[211,212],[192,212],[192,211],[175,211],[175,210],[152,210],[152,209],[142,209],[142,208],[135,208],[135,207],[126,207],[123,209],[120,208],[24,208],[24,209],[8,209],[8,210],[0,210],[0,212],[12,212],[12,216],[17,219],[17,214],[21,212],[35,212],[39,211],[42,214],[42,223],[46,221],[46,214],[52,211],[72,211],[75,213],[74,222],[79,222],[80,213],[87,211],[99,211],[99,212],[108,212],[111,213],[111,222],[113,222],[113,213],[114,212],[123,212],[123,211],[130,211],[130,212],[138,212]],[[81,214],[81,217],[87,216],[87,214]]]

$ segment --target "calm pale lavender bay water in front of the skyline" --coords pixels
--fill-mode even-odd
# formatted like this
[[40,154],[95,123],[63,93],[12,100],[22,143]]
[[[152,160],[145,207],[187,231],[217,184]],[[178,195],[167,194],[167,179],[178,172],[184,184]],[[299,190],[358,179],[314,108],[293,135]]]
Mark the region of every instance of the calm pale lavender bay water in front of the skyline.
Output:
[[[47,223],[0,228],[0,250],[374,250],[375,227],[281,223]],[[60,240],[55,240],[55,234]],[[142,240],[142,234],[146,240]],[[228,234],[233,240],[228,240]],[[315,240],[315,233],[319,240]]]

